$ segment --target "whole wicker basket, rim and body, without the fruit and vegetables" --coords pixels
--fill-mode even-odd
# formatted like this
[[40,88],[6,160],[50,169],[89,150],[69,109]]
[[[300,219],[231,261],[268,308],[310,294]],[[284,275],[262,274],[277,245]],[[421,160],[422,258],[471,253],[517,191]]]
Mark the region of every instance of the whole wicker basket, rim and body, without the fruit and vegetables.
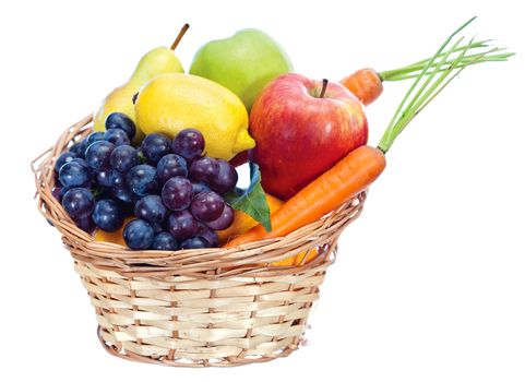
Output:
[[[58,156],[92,131],[92,116],[33,164],[38,210],[62,235],[111,355],[165,366],[239,366],[286,357],[303,338],[337,239],[366,193],[284,238],[238,248],[132,251],[95,241],[52,196]],[[308,263],[275,266],[306,251]],[[305,256],[306,258],[306,256]]]

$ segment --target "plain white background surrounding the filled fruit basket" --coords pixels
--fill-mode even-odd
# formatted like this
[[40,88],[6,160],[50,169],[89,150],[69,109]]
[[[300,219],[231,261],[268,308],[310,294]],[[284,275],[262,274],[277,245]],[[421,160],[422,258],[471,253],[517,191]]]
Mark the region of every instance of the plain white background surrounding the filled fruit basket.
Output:
[[[524,381],[524,35],[518,1],[12,1],[0,5],[0,379],[21,381]],[[287,359],[189,370],[110,357],[57,231],[36,211],[29,160],[191,28],[177,53],[242,27],[296,70],[338,80],[431,55],[456,26],[518,55],[462,73],[407,128]],[[379,141],[407,84],[367,109]],[[7,377],[10,375],[10,377]],[[336,377],[329,377],[336,375]]]

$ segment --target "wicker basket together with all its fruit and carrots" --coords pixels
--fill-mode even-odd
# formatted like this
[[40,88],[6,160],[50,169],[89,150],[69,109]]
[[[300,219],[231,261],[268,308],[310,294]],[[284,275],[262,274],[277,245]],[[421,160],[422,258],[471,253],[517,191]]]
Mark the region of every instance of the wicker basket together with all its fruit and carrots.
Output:
[[[452,44],[473,20],[429,59],[341,83],[291,73],[274,41],[246,31],[251,37],[230,43],[270,46],[285,73],[255,81],[242,100],[247,93],[224,79],[196,75],[213,71],[181,73],[172,50],[188,25],[171,49],[147,52],[95,116],[32,164],[38,210],[62,235],[106,350],[225,367],[297,349],[338,237],[361,214],[396,138],[465,68],[512,56],[488,40]],[[213,67],[202,55],[196,68]],[[152,61],[169,64],[145,70]],[[249,68],[241,63],[230,72]],[[368,145],[363,105],[383,81],[408,79],[378,146]],[[248,155],[243,190],[235,167]]]

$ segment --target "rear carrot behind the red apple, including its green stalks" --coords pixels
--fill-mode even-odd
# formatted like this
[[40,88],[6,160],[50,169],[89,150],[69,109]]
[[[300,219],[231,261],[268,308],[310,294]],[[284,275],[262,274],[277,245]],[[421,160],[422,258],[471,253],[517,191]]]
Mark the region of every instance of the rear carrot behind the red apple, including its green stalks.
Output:
[[[488,47],[488,43],[490,40],[479,40],[479,41],[472,41],[468,45],[468,49],[475,50],[479,49],[480,51],[474,52],[472,55],[465,55],[462,58],[462,61],[458,62],[458,68],[467,67],[473,63],[480,63],[480,62],[488,62],[488,61],[506,61],[509,57],[513,56],[512,52],[504,52],[501,53],[503,48],[496,48],[491,51],[490,55],[484,53],[484,49]],[[454,48],[452,52],[460,52],[465,49],[466,45],[457,46]],[[442,58],[444,52],[439,56]],[[482,57],[481,57],[482,56]],[[394,70],[386,70],[383,72],[377,72],[373,69],[366,68],[360,69],[357,72],[344,77],[339,81],[339,83],[348,88],[354,95],[363,104],[370,105],[373,103],[378,97],[383,93],[383,82],[385,81],[402,81],[408,79],[415,79],[421,73],[425,67],[430,62],[432,58],[427,58],[421,61],[417,61],[410,63],[408,65],[394,69]],[[476,62],[473,62],[476,61]],[[452,59],[449,60],[446,63],[452,63]],[[432,64],[431,69],[435,68],[437,62]],[[446,65],[443,65],[440,71],[445,70]]]

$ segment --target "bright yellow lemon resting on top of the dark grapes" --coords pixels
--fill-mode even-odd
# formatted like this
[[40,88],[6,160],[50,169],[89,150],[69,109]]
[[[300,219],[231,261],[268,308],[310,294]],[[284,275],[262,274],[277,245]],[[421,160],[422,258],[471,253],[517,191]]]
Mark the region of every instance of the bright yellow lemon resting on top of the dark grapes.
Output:
[[150,81],[136,98],[135,117],[145,134],[159,132],[174,138],[183,129],[198,129],[204,135],[207,155],[214,158],[229,160],[255,146],[239,97],[196,75],[169,73]]

